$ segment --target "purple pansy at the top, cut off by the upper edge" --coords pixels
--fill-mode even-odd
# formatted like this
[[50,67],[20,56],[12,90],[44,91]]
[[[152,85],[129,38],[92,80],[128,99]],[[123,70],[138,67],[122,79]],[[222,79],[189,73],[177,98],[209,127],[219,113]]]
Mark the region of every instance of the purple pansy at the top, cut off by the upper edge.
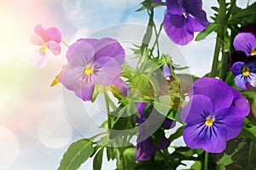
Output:
[[201,0],[166,0],[164,28],[172,42],[186,45],[209,25]]

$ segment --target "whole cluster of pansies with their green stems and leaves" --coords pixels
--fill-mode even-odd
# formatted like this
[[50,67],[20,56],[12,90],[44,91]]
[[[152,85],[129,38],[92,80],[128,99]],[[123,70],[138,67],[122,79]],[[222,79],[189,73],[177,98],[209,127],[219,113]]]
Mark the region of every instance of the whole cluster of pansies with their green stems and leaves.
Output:
[[[160,169],[176,169],[183,161],[181,155],[187,156],[189,160],[198,161],[194,154],[200,154],[199,149],[205,150],[206,166],[207,152],[224,152],[227,141],[238,139],[236,137],[241,134],[242,129],[249,132],[252,148],[255,148],[255,121],[250,120],[252,118],[248,115],[253,112],[250,111],[250,105],[252,110],[255,107],[256,94],[255,90],[247,89],[256,88],[256,25],[251,23],[243,26],[247,22],[250,23],[249,21],[242,25],[238,23],[236,19],[248,14],[249,10],[245,9],[239,14],[236,3],[232,2],[218,1],[220,7],[213,9],[220,12],[212,17],[214,22],[209,23],[207,14],[202,9],[201,0],[166,0],[165,3],[161,0],[145,0],[142,3],[143,7],[138,10],[147,9],[149,16],[143,40],[150,42],[153,29],[155,40],[153,47],[143,42],[141,46],[134,44],[135,48],[131,48],[138,58],[136,67],[125,62],[125,49],[116,39],[81,38],[68,46],[61,40],[61,32],[57,28],[50,27],[44,30],[41,25],[36,26],[31,41],[40,46],[33,58],[33,64],[37,67],[41,68],[47,64],[46,50],[49,49],[52,54],[58,55],[61,53],[59,43],[63,42],[67,46],[67,64],[62,66],[61,73],[55,77],[52,85],[61,82],[65,88],[73,91],[83,101],[94,102],[97,94],[103,93],[106,101],[108,119],[101,126],[106,128],[105,136],[98,140],[99,144],[96,139],[102,133],[83,142],[79,140],[72,144],[63,156],[64,161],[61,161],[61,166],[65,167],[65,163],[70,162],[73,157],[81,164],[81,160],[96,154],[95,167],[97,166],[95,161],[101,161],[99,156],[102,156],[105,148],[107,148],[108,160],[116,159],[117,165],[123,166],[118,167],[119,169],[125,169],[125,163],[131,161],[131,153],[138,167],[127,169],[141,169],[139,167],[141,165],[146,165],[142,169],[151,168],[147,167],[148,160],[159,161],[157,165],[163,161],[168,165],[171,164],[171,167],[157,167]],[[166,12],[163,14],[164,20],[158,31],[154,23],[154,9],[159,6],[164,6]],[[252,5],[252,8],[255,8],[255,5]],[[178,45],[191,42],[197,31],[204,31],[200,34],[202,39],[215,31],[214,26],[216,26],[218,38],[213,54],[212,71],[201,78],[189,74],[178,74],[178,71],[187,67],[175,65],[168,54],[160,54],[159,40],[162,26],[172,42]],[[228,28],[231,33],[227,31]],[[228,45],[229,49],[225,45]],[[154,48],[158,50],[157,56],[154,56]],[[234,53],[230,56],[230,63],[227,63],[226,51],[229,50]],[[191,82],[188,79],[191,79]],[[109,96],[109,91],[113,96]],[[113,102],[113,97],[118,102]],[[152,132],[151,124],[147,124],[147,119],[154,116],[154,113],[163,119],[157,129]],[[159,120],[154,117],[153,122],[159,122]],[[176,122],[180,122],[181,127],[166,138],[166,129],[175,127]],[[125,134],[113,135],[112,130],[127,129],[136,129],[138,132],[132,131],[126,136]],[[136,146],[131,144],[131,138],[134,135],[137,136]],[[173,153],[166,150],[172,141],[179,137],[183,137],[191,152],[184,153],[186,151],[183,150],[187,150],[188,147],[179,148],[178,146],[173,146],[175,150]],[[246,137],[246,135],[242,136],[243,139],[241,139],[244,144],[247,142]],[[106,141],[108,146],[101,145]],[[234,142],[238,143],[237,141],[240,140]],[[115,144],[124,144],[122,142],[131,146],[122,145],[118,149],[113,148]],[[86,153],[77,152],[79,147],[82,147],[81,150],[86,148],[84,151]],[[73,148],[76,150],[73,151]],[[238,149],[235,150],[233,154],[238,151]],[[161,158],[158,157],[158,152]],[[253,149],[250,149],[250,153],[253,153]],[[77,163],[77,160],[73,162]],[[173,161],[173,165],[169,161]],[[144,162],[146,163],[143,164]],[[79,168],[80,164],[74,165],[74,169]]]

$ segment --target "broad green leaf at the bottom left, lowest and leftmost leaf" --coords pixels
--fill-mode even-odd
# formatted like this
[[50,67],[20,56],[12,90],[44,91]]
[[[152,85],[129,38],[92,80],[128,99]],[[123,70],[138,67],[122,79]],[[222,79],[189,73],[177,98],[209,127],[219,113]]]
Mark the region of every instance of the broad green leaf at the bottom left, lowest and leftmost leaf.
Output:
[[58,170],[75,170],[86,161],[93,152],[92,142],[90,139],[79,139],[70,144],[66,153],[61,159]]

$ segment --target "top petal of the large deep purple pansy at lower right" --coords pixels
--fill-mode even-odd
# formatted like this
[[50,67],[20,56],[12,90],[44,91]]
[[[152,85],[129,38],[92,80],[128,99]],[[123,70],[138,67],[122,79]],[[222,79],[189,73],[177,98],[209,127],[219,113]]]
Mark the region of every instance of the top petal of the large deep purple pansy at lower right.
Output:
[[212,100],[214,111],[218,111],[232,104],[234,95],[231,89],[228,84],[217,78],[203,77],[189,88],[189,97],[195,94],[205,95]]

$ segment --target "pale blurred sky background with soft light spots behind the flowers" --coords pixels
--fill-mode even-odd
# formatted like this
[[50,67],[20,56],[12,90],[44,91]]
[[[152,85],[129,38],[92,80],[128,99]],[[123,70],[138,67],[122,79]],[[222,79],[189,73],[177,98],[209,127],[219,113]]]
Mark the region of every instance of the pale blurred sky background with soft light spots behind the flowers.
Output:
[[[0,0],[1,170],[56,169],[68,144],[84,137],[68,119],[63,87],[60,84],[49,87],[66,63],[67,47],[61,44],[59,56],[49,55],[46,67],[35,68],[31,59],[38,47],[30,42],[34,26],[55,26],[61,30],[63,41],[71,44],[108,26],[125,23],[146,26],[147,14],[135,12],[139,3],[141,0]],[[245,7],[247,1],[237,3]],[[212,5],[216,2],[203,1],[208,20],[213,14]],[[165,8],[156,10],[155,20],[160,23]],[[184,47],[177,46],[190,66],[189,71],[199,77],[210,71],[214,36]],[[106,115],[102,114],[101,118]],[[84,126],[90,127],[86,119]],[[106,159],[102,165],[102,169],[114,167],[114,161]],[[80,169],[92,169],[91,160]]]

